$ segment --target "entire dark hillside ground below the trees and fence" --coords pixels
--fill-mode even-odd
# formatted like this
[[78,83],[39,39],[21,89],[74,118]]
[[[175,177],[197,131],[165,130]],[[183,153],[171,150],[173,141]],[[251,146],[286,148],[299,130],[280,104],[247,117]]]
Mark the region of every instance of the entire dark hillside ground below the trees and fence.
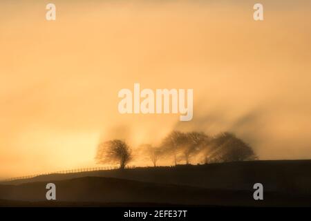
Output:
[[[45,175],[2,183],[0,206],[311,206],[310,171],[311,160],[294,160]],[[256,182],[264,200],[253,199]]]

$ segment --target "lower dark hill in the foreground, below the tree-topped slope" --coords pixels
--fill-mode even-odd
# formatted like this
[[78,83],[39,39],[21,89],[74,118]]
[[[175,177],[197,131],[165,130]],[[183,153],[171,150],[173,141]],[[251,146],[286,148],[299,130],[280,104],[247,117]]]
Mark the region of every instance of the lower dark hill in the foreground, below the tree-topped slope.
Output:
[[255,201],[252,191],[205,189],[109,177],[80,177],[53,182],[57,186],[55,202],[46,200],[46,182],[0,185],[0,198],[5,206],[308,206],[311,199],[310,196],[266,192],[265,200]]

